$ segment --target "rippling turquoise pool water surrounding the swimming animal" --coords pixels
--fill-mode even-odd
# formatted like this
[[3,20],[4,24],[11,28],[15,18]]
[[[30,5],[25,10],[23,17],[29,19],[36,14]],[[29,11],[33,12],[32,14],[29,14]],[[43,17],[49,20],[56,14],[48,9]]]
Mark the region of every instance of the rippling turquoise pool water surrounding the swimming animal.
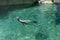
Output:
[[[55,4],[42,4],[26,8],[4,7],[0,11],[0,40],[55,40]],[[23,25],[16,20],[36,20]]]

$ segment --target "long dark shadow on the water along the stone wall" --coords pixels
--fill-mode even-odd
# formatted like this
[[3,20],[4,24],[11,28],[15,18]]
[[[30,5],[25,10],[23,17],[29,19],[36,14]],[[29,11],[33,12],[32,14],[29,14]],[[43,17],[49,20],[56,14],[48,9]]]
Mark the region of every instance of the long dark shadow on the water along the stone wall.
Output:
[[6,6],[0,6],[0,19],[4,19],[5,17],[8,16],[8,11],[13,11],[13,10],[21,10],[29,7],[34,7],[34,5],[6,5]]

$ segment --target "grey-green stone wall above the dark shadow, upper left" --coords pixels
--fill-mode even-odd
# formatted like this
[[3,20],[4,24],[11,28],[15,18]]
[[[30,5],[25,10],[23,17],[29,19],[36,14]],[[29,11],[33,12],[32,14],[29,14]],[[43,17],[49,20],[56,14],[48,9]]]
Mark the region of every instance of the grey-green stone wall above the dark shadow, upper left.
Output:
[[33,4],[38,0],[0,0],[0,5],[22,5],[22,4]]

